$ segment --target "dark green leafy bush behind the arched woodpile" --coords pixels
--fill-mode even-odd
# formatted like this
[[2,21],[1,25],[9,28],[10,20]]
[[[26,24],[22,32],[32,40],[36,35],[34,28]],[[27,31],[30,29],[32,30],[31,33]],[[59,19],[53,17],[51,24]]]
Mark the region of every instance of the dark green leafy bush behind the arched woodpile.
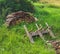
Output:
[[28,0],[3,0],[0,1],[0,25],[4,23],[6,16],[16,11],[34,12],[33,4]]

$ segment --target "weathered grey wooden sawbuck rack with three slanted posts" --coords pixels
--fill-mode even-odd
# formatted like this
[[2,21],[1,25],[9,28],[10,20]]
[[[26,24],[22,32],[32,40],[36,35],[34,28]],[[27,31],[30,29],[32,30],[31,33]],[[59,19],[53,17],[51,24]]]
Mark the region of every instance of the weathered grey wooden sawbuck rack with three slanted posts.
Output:
[[31,43],[34,43],[33,36],[37,36],[37,35],[39,35],[40,38],[45,42],[43,34],[46,34],[46,33],[49,33],[52,38],[55,38],[53,32],[50,30],[50,27],[48,26],[47,23],[46,23],[47,28],[43,29],[43,30],[41,30],[37,24],[35,24],[35,25],[36,25],[36,27],[38,29],[35,32],[29,32],[26,25],[24,25],[24,29],[25,29],[26,34],[29,37]]

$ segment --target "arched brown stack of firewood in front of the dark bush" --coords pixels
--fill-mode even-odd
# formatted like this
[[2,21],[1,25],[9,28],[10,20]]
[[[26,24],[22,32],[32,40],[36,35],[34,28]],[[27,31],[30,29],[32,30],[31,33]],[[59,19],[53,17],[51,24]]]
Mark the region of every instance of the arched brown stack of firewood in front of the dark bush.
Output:
[[18,11],[7,15],[5,24],[7,26],[15,25],[20,23],[21,21],[24,22],[35,22],[37,19],[32,16],[29,12]]

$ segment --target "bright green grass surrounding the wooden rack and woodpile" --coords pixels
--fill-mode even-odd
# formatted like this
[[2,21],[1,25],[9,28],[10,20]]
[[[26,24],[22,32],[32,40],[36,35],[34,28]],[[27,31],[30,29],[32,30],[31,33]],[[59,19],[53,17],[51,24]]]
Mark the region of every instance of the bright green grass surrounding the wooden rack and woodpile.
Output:
[[[60,8],[51,8],[46,5],[43,5],[44,8],[41,8],[40,4],[34,5],[36,9],[34,16],[39,19],[37,23],[45,27],[45,22],[47,22],[52,26],[52,31],[57,39],[60,39]],[[1,20],[3,19],[1,18]],[[1,20],[0,25],[3,23]],[[0,54],[55,54],[54,49],[46,46],[39,37],[34,37],[34,44],[29,42],[23,25],[26,24],[29,31],[35,31],[37,29],[35,23],[20,23],[11,28],[6,28],[6,26],[1,25]],[[46,36],[45,39],[50,40],[51,38]]]

